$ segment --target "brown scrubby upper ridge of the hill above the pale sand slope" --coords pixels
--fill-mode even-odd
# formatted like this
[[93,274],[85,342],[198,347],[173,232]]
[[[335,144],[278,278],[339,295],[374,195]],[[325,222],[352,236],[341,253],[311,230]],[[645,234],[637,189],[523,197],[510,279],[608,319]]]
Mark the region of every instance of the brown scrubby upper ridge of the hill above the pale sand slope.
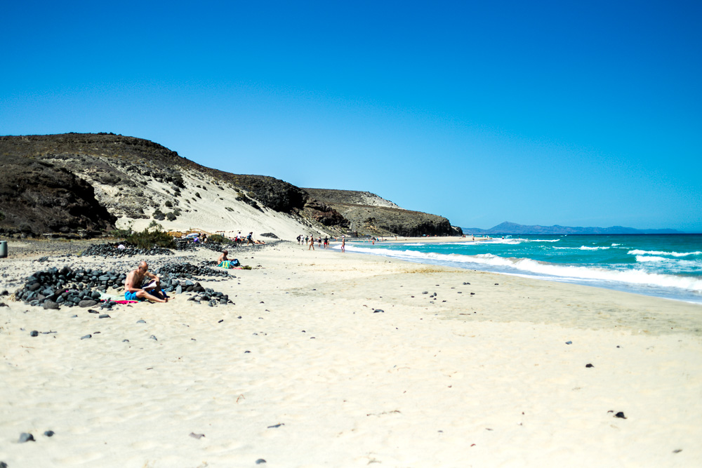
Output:
[[[283,180],[207,168],[152,141],[114,133],[4,136],[0,137],[2,154],[50,161],[73,173],[85,174],[87,180],[114,187],[121,192],[121,200],[108,207],[115,208],[119,215],[122,212],[135,217],[142,214],[140,207],[144,201],[140,189],[152,180],[167,185],[169,192],[177,195],[185,188],[184,171],[207,175],[279,212],[301,210],[307,200],[303,189]],[[110,197],[113,195],[110,193]]]

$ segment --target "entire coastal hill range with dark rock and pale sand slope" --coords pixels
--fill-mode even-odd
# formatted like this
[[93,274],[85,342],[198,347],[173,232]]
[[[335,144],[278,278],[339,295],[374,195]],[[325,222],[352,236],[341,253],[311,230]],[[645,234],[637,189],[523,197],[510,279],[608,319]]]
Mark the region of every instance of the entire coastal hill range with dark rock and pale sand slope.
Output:
[[[164,229],[274,232],[287,239],[350,229],[451,233],[445,218],[402,210],[368,192],[315,192],[265,175],[218,171],[149,140],[112,133],[3,136],[0,158],[6,169],[0,232],[6,233],[104,232],[154,222]],[[359,206],[375,211],[369,216],[353,208]]]

